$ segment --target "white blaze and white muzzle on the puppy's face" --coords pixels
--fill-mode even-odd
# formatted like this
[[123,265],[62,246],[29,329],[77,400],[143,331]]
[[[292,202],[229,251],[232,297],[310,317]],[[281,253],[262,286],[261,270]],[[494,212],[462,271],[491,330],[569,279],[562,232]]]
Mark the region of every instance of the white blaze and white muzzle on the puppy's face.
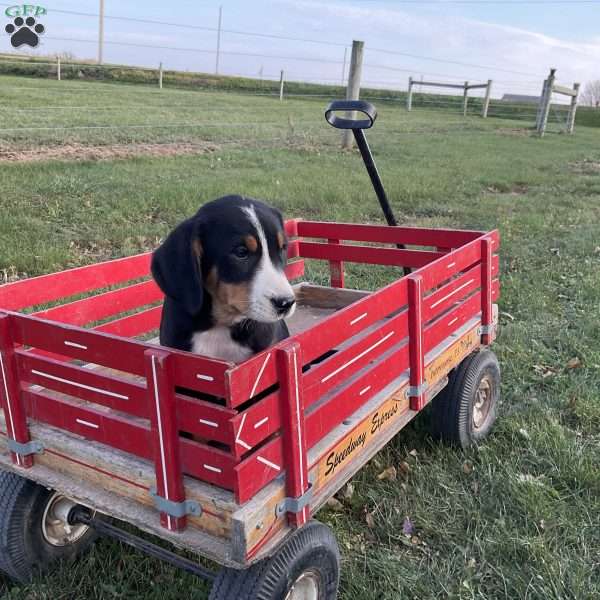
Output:
[[242,208],[242,211],[244,211],[250,223],[256,229],[256,235],[262,249],[262,256],[252,282],[250,293],[250,312],[254,313],[251,318],[262,321],[274,321],[280,317],[275,312],[271,298],[293,297],[294,291],[283,270],[277,269],[271,260],[265,230],[254,207],[245,206]]

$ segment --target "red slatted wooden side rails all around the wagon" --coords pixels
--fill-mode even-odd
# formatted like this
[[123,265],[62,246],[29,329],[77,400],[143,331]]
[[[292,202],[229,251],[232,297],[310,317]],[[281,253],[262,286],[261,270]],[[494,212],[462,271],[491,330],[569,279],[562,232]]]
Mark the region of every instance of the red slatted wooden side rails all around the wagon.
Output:
[[402,373],[411,408],[423,408],[427,353],[467,322],[479,319],[484,344],[493,339],[499,239],[309,221],[288,221],[286,231],[297,238],[290,279],[306,259],[329,263],[334,287],[344,286],[345,262],[416,270],[238,365],[132,339],[160,319],[149,254],[0,286],[0,401],[14,462],[31,467],[39,451],[29,418],[152,461],[170,530],[193,511],[186,475],[244,503],[285,472],[290,522],[309,519],[307,450]]

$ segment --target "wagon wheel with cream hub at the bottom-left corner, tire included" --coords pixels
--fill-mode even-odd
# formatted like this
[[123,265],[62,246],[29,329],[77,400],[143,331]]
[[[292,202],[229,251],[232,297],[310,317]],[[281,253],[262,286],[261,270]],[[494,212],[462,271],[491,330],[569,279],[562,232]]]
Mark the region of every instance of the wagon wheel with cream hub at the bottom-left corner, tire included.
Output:
[[77,503],[28,479],[0,471],[0,570],[21,582],[59,560],[73,560],[96,538],[70,524]]

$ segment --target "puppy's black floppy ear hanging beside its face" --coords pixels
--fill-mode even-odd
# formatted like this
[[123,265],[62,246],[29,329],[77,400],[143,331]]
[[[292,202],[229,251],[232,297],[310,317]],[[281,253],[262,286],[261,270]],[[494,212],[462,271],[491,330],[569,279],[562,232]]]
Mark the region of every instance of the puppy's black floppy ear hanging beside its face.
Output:
[[191,315],[197,314],[202,307],[201,256],[197,217],[178,225],[152,255],[151,270],[158,287],[181,303]]

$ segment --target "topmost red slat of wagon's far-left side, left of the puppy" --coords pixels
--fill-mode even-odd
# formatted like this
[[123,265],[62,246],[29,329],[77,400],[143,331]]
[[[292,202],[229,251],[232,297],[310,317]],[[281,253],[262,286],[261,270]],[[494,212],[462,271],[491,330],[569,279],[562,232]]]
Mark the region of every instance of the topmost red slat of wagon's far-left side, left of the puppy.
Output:
[[0,286],[0,308],[21,310],[145,277],[149,271],[150,253],[147,252],[23,279]]

